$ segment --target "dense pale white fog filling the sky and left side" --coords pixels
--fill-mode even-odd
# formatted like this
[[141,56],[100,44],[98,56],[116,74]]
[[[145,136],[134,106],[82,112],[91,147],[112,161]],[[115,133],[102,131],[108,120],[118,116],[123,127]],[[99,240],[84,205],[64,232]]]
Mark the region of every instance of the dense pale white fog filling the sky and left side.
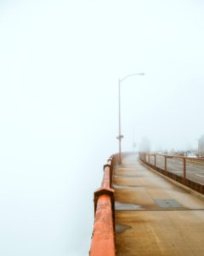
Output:
[[0,254],[88,255],[93,193],[122,151],[204,134],[204,4],[0,2]]

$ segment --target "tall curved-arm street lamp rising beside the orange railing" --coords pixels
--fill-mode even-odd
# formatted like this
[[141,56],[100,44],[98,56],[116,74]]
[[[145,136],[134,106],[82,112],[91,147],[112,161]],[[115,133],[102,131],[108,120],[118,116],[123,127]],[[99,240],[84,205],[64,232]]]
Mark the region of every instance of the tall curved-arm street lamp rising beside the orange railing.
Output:
[[123,135],[121,134],[121,83],[122,81],[124,81],[125,79],[129,78],[129,77],[133,77],[133,76],[144,76],[144,73],[132,73],[127,75],[126,77],[124,77],[123,79],[118,79],[118,113],[119,113],[119,135],[118,137],[116,137],[119,141],[119,164],[122,164],[122,150],[121,150],[121,141],[123,138]]

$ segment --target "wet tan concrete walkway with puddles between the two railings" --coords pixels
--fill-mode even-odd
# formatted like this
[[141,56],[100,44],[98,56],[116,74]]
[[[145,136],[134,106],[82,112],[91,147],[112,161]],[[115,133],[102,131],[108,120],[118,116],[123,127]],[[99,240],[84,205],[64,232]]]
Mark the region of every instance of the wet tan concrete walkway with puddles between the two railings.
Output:
[[116,255],[204,255],[204,197],[127,156],[114,175]]

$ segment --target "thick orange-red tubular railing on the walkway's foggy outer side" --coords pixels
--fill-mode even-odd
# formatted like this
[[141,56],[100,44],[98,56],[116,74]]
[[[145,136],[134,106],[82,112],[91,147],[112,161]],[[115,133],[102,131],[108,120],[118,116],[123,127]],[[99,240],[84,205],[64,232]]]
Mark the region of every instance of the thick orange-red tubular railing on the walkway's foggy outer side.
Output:
[[94,192],[94,231],[90,256],[115,256],[115,209],[112,189],[113,169],[119,163],[115,154],[104,166],[104,177],[99,189]]

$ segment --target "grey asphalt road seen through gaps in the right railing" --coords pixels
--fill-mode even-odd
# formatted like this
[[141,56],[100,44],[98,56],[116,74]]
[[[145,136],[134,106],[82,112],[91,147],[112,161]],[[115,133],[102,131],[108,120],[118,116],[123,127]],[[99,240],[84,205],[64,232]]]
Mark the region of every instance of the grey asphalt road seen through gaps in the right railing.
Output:
[[[154,165],[154,163],[154,156],[150,156],[150,164]],[[164,156],[156,155],[156,166],[164,170]],[[184,177],[184,160],[182,158],[167,158],[167,171]],[[186,177],[196,183],[204,184],[204,161],[187,159]]]

